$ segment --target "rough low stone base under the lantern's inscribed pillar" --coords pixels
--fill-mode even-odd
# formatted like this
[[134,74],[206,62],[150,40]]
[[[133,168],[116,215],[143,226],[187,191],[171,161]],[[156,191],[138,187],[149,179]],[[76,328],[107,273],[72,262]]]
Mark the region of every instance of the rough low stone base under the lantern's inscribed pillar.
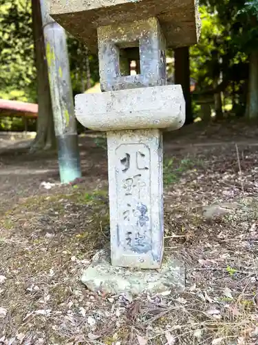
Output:
[[94,255],[81,281],[89,290],[103,293],[155,294],[166,290],[184,290],[185,273],[182,263],[173,257],[166,258],[160,270],[129,270],[111,266],[109,250],[103,249]]

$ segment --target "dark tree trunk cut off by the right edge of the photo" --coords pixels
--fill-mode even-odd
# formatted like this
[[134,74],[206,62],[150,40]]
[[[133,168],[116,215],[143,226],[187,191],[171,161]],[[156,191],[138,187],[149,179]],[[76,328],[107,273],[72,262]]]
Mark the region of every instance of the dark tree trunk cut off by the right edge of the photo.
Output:
[[258,52],[250,54],[246,117],[258,119]]

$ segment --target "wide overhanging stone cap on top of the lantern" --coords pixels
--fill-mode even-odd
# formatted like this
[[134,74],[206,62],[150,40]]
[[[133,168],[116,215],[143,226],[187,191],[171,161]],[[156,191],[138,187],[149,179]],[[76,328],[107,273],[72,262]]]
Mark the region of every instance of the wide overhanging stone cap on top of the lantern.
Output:
[[50,0],[50,14],[92,52],[97,28],[157,17],[167,48],[191,46],[200,35],[197,0]]

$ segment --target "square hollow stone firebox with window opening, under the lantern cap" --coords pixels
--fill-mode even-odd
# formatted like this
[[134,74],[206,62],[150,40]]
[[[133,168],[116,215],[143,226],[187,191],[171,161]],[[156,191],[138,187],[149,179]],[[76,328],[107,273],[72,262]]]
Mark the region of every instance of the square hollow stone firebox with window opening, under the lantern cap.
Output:
[[[137,50],[140,74],[129,75],[127,56],[137,60]],[[166,40],[158,19],[98,28],[98,61],[103,91],[166,85]]]

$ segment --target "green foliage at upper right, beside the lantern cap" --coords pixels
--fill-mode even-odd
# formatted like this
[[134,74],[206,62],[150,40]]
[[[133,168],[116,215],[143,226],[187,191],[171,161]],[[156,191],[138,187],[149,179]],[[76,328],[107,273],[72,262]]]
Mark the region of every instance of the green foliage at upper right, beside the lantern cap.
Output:
[[200,43],[191,48],[197,92],[213,89],[217,80],[236,115],[244,115],[248,57],[258,47],[257,8],[257,0],[202,0]]

